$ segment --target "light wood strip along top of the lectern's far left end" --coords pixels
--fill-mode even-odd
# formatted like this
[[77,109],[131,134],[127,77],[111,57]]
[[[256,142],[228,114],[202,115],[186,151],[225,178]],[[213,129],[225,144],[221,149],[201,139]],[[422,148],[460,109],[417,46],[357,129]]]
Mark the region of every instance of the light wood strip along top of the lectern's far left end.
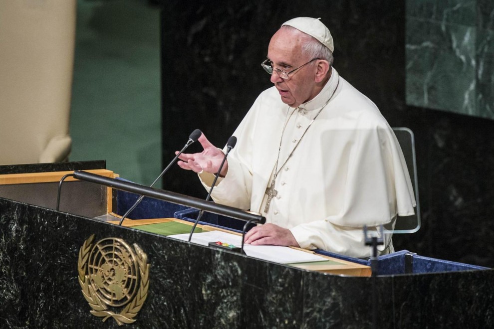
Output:
[[[84,170],[97,175],[113,178],[115,174],[108,169],[91,169]],[[74,171],[52,171],[52,172],[28,172],[28,173],[7,173],[0,175],[0,185],[6,184],[28,184],[28,183],[47,183],[59,181],[67,173]],[[74,177],[67,177],[65,181],[77,180]]]

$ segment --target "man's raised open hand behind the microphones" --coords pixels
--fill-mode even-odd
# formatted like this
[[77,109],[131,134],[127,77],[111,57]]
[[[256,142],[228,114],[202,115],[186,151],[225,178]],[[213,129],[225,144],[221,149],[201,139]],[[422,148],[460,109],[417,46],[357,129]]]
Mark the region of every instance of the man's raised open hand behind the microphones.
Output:
[[[201,172],[204,170],[216,174],[225,155],[216,146],[211,144],[204,134],[201,134],[198,141],[204,149],[203,152],[194,154],[183,153],[179,156],[179,159],[182,161],[179,161],[177,164],[182,169],[192,170],[194,172]],[[178,154],[178,151],[176,151],[175,154]],[[220,176],[225,177],[227,171],[228,162],[225,162]]]

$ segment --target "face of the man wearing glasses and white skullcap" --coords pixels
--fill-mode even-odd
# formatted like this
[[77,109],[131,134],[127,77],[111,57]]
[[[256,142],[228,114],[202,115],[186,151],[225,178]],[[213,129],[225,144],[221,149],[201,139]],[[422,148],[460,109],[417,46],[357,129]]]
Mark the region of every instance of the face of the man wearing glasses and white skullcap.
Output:
[[[312,59],[302,56],[303,35],[300,34],[283,28],[274,33],[267,50],[273,68],[290,72]],[[271,82],[278,90],[281,101],[290,107],[298,107],[314,98],[318,92],[315,91],[315,70],[314,62],[309,63],[289,74],[288,80],[273,72]]]

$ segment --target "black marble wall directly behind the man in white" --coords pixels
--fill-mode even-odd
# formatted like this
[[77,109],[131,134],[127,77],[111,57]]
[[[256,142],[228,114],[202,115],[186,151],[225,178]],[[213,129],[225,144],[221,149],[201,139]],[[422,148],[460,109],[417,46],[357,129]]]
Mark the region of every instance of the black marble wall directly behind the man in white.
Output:
[[[321,17],[334,66],[415,133],[422,228],[396,250],[494,267],[494,122],[405,103],[405,1],[173,1],[162,11],[163,164],[201,129],[223,146],[255,97],[270,87],[260,63],[271,35],[296,16]],[[196,149],[192,151],[199,151]],[[175,167],[163,187],[205,196]]]

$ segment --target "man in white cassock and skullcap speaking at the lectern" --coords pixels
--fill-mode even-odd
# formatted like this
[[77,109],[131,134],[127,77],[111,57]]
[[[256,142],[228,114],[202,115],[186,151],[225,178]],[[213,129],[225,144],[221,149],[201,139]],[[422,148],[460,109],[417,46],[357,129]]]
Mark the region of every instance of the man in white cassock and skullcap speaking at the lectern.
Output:
[[[245,243],[320,248],[371,256],[363,226],[392,230],[414,214],[415,198],[396,137],[376,105],[333,64],[328,28],[293,18],[272,36],[261,66],[273,87],[262,92],[234,136],[238,143],[213,190],[217,203],[262,213],[266,224]],[[204,135],[204,151],[180,165],[210,188],[223,152]],[[393,252],[391,234],[378,252]]]

